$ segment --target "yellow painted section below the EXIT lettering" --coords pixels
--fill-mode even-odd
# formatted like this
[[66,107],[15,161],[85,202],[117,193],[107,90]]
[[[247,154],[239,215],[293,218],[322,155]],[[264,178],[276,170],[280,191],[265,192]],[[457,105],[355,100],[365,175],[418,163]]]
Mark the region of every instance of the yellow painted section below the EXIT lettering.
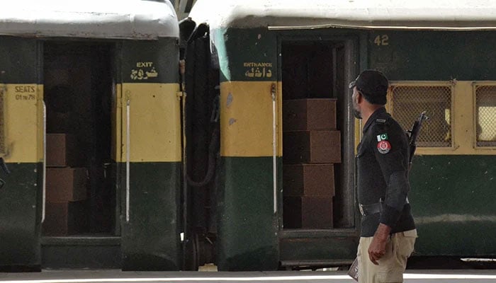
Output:
[[112,121],[115,160],[126,161],[129,100],[130,162],[181,161],[179,84],[123,83],[116,88],[118,100]]

